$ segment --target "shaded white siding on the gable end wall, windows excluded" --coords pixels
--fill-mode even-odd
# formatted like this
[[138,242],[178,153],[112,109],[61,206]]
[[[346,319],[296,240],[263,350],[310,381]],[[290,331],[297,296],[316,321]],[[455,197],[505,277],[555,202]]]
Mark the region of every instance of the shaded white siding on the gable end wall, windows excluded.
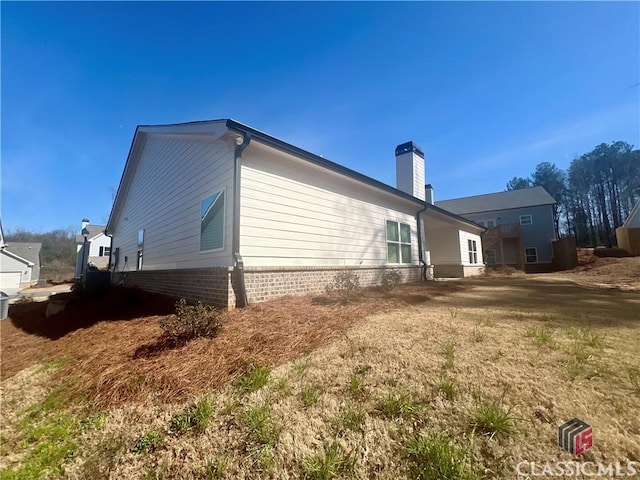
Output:
[[[233,146],[206,136],[146,134],[126,201],[113,229],[116,271],[135,271],[144,229],[142,270],[231,265]],[[200,252],[202,200],[225,191],[220,251]],[[128,257],[125,262],[125,256]]]

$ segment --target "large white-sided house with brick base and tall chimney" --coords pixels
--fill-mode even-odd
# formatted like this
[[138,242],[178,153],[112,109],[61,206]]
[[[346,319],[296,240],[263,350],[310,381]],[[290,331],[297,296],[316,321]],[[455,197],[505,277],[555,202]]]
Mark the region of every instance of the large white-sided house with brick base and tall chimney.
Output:
[[363,286],[481,273],[485,229],[425,200],[422,150],[399,145],[395,167],[398,188],[234,120],[139,126],[112,281],[232,308],[324,293],[345,269]]

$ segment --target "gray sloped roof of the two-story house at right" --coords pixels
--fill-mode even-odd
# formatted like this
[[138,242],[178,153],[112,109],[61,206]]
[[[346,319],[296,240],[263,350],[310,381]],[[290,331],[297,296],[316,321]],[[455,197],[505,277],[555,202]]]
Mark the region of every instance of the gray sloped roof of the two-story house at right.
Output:
[[534,207],[537,205],[553,205],[556,201],[543,187],[523,188],[508,192],[487,193],[472,197],[453,198],[436,202],[457,215],[469,213],[508,210],[510,208]]

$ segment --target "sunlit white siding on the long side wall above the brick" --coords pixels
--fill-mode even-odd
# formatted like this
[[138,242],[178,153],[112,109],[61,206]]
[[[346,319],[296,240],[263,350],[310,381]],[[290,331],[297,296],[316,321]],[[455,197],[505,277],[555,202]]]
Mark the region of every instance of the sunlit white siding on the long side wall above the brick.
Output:
[[419,207],[252,142],[242,157],[240,252],[245,266],[387,265],[386,220],[411,226]]

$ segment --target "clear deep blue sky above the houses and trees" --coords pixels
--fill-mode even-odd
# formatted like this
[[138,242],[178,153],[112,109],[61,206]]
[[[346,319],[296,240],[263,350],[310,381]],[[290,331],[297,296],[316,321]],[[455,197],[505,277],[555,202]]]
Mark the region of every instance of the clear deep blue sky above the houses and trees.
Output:
[[[106,223],[138,124],[234,118],[436,200],[640,145],[640,3],[2,2],[5,231]],[[635,85],[635,86],[634,86]]]

